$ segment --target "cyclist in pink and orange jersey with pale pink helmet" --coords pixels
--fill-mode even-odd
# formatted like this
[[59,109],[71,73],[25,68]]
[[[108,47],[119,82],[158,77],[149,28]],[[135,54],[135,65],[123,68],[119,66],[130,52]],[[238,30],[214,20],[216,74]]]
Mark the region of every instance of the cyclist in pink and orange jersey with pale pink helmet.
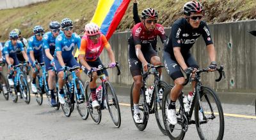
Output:
[[[108,40],[106,39],[106,36],[102,34],[99,31],[99,26],[94,23],[86,24],[84,27],[84,36],[81,39],[81,47],[80,47],[80,53],[79,53],[79,62],[84,70],[84,73],[86,74],[92,74],[92,81],[90,82],[90,90],[92,93],[92,107],[96,108],[99,107],[99,102],[96,100],[96,80],[97,75],[100,73],[97,72],[97,67],[102,67],[103,64],[99,58],[100,53],[104,48],[106,48],[109,59],[111,60],[111,63],[109,64],[109,67],[113,68],[116,66],[115,63],[115,55],[113,53],[113,50],[111,49],[111,46],[108,43]],[[106,69],[104,70],[104,74],[107,76],[108,80],[108,72]],[[105,102],[105,101],[104,101]],[[105,103],[106,104],[106,103]]]

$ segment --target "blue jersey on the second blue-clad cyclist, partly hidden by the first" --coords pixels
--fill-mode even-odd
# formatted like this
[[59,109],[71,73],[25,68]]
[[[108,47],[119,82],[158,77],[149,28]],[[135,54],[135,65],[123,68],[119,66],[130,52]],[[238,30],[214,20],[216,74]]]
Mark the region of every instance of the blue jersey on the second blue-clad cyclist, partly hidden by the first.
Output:
[[[62,33],[63,33],[63,31],[60,31],[60,34],[62,34]],[[56,38],[54,38],[51,31],[46,32],[43,37],[44,50],[49,48],[52,55],[55,51],[55,39]]]

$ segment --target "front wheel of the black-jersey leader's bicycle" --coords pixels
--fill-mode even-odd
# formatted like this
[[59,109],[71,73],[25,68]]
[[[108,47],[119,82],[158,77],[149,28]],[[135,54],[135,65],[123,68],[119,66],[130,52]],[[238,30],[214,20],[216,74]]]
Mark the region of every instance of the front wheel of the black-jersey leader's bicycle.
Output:
[[[223,139],[224,116],[218,96],[211,88],[202,87],[200,98],[202,109],[199,109],[198,100],[195,102],[195,123],[200,139]],[[203,120],[200,120],[198,111],[204,112]]]

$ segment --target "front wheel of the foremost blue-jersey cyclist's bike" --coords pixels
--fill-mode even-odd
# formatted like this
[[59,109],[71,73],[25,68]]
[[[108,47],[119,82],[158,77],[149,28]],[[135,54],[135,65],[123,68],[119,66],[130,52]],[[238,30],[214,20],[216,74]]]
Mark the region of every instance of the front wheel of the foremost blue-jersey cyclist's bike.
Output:
[[[83,81],[77,78],[76,85],[77,85],[77,87],[78,86],[80,87],[80,94],[83,95],[83,97],[85,97]],[[89,116],[86,101],[84,100],[83,102],[80,102],[80,101],[77,101],[77,99],[78,98],[76,97],[77,111],[78,111],[79,115],[82,117],[82,119],[86,120]]]

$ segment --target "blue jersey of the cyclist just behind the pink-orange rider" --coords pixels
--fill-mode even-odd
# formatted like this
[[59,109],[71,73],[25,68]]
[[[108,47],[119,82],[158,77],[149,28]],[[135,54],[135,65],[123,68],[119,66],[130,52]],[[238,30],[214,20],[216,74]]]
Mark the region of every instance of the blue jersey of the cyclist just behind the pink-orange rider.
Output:
[[81,38],[76,33],[73,33],[70,38],[67,38],[65,34],[60,34],[59,36],[57,36],[55,41],[55,52],[61,51],[63,59],[70,59],[71,57],[74,57],[72,55],[72,51],[74,50],[75,45],[77,45],[79,49],[80,44]]

